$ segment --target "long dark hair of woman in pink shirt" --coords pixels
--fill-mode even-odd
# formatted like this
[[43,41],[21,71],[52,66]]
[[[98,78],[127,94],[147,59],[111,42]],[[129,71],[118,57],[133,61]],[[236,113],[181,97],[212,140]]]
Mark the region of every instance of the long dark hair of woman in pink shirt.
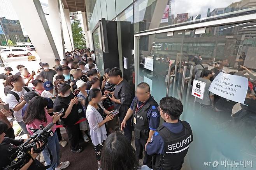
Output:
[[31,124],[35,119],[47,122],[46,112],[44,108],[47,106],[48,100],[41,96],[35,96],[30,100],[23,117],[24,123]]

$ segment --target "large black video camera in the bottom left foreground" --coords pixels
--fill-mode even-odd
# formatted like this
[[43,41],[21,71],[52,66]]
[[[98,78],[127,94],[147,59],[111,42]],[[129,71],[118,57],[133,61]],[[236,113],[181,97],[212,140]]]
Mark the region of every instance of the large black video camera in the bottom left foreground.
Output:
[[[25,143],[19,146],[20,149],[17,151],[18,152],[17,157],[14,158],[11,164],[6,166],[5,169],[19,170],[21,167],[23,167],[26,163],[28,163],[28,161],[31,158],[30,151],[32,148],[34,149],[35,153],[40,153],[42,150],[44,150],[44,147],[48,142],[48,138],[54,135],[53,131],[51,130],[51,127],[53,127],[53,123],[48,124],[46,127],[44,127],[41,124],[40,129],[30,128],[30,130],[33,131],[33,135]],[[42,142],[44,145],[40,148],[37,148],[37,142],[39,141]],[[51,157],[51,152],[50,152],[50,157]]]

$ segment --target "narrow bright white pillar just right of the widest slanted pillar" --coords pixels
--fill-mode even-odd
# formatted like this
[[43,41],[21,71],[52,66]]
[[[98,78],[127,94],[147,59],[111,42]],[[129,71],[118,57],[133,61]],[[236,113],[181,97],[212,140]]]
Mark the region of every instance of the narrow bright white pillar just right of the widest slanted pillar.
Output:
[[64,51],[64,39],[62,32],[61,14],[60,14],[60,0],[48,0],[49,5],[49,28],[53,35],[53,40],[55,42],[57,51],[61,60],[65,56]]

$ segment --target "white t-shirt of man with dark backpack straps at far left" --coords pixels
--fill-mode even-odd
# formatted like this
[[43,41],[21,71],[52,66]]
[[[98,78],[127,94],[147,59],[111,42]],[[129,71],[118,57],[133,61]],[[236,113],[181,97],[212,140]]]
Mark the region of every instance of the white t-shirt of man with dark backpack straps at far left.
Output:
[[[33,88],[30,88],[30,91],[33,91]],[[11,91],[14,91],[13,89]],[[26,93],[28,93],[24,88],[22,88],[22,91],[14,91],[15,93],[17,93],[19,95],[19,98],[21,98],[21,96],[25,95]],[[20,102],[22,102],[21,100],[19,100],[19,102],[16,100],[15,96],[12,94],[7,94],[6,96],[6,103],[9,104],[10,109],[14,109],[14,107],[16,107],[16,105],[18,105]],[[13,112],[13,116],[15,117],[17,122],[22,122],[22,108],[18,111],[14,111]]]

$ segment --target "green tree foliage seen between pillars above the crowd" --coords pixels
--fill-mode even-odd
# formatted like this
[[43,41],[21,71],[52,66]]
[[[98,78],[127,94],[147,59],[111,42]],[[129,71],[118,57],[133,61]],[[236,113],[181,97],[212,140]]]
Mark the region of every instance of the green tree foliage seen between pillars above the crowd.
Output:
[[74,47],[79,49],[85,48],[86,42],[85,42],[84,33],[82,32],[81,20],[80,19],[74,20],[74,22],[71,23],[71,28],[72,28]]

